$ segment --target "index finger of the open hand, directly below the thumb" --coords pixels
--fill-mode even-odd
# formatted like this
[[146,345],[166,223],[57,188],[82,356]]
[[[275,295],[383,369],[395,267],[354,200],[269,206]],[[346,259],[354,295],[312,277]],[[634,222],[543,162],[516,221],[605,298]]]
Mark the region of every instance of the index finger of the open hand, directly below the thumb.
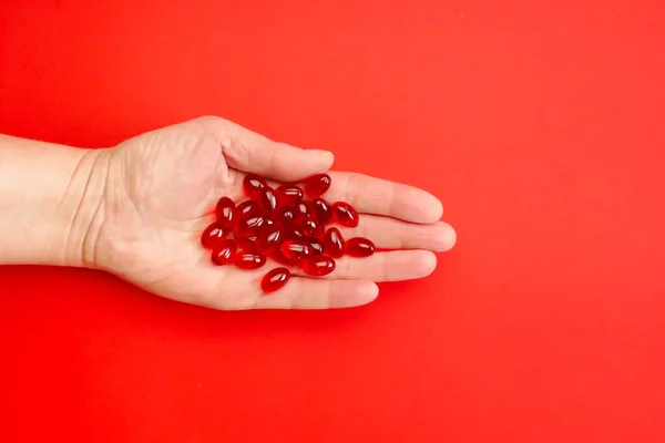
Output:
[[430,193],[357,173],[330,173],[332,184],[324,196],[344,200],[360,213],[386,215],[407,222],[429,224],[443,214],[441,202]]

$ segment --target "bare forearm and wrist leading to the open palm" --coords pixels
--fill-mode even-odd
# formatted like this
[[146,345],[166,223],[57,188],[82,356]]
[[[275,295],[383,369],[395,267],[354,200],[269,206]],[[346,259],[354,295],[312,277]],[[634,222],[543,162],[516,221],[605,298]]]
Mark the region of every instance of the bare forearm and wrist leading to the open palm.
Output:
[[102,153],[0,135],[0,265],[88,265]]

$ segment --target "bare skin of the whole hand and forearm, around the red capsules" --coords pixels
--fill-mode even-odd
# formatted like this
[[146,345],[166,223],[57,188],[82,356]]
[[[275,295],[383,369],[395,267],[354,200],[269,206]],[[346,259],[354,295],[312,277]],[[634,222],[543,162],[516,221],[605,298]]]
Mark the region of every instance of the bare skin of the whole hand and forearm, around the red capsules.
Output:
[[422,278],[434,251],[454,245],[431,194],[356,173],[329,172],[326,199],[361,214],[345,238],[397,249],[341,258],[321,279],[295,277],[263,295],[270,262],[218,267],[200,236],[222,195],[242,199],[246,173],[293,182],[328,172],[329,152],[273,142],[218,117],[201,117],[80,150],[0,136],[0,264],[74,266],[112,272],[155,295],[214,309],[346,308],[378,296],[377,281]]

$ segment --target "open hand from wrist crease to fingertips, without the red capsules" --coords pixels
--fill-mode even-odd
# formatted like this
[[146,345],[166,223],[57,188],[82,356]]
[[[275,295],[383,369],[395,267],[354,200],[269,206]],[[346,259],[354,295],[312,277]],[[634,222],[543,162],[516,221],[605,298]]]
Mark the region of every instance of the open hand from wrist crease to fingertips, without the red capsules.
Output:
[[[433,271],[430,251],[454,244],[441,222],[441,203],[406,185],[355,173],[330,173],[330,202],[346,200],[360,216],[345,238],[366,236],[379,248],[369,258],[342,258],[324,279],[293,277],[280,290],[260,291],[254,271],[215,266],[200,236],[224,195],[242,199],[245,173],[291,182],[327,172],[328,152],[272,142],[217,117],[202,117],[127,140],[102,153],[105,185],[84,245],[89,266],[111,271],[153,293],[217,309],[340,308],[367,303],[375,281],[420,278]],[[411,222],[411,223],[408,223]]]

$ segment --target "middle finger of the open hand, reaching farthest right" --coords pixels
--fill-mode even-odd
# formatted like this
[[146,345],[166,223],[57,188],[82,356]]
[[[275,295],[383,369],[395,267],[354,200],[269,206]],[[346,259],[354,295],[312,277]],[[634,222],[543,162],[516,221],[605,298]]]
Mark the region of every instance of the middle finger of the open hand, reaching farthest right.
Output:
[[366,237],[383,249],[427,249],[436,253],[450,250],[456,243],[454,229],[443,223],[418,225],[376,215],[361,215],[358,227],[339,227],[345,239]]

